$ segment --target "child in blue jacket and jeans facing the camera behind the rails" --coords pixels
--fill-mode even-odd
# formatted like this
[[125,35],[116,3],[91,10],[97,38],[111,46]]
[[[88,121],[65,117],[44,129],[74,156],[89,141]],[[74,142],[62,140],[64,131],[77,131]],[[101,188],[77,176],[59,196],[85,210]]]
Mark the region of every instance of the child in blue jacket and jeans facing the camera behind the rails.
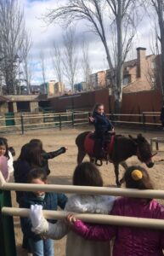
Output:
[[[28,183],[47,184],[47,175],[42,168],[33,169],[28,174]],[[57,210],[58,206],[64,209],[66,201],[67,197],[64,194],[37,191],[25,193],[25,196],[21,198],[20,207],[30,208],[31,205],[37,204],[46,210]],[[48,224],[54,222],[48,220]],[[28,239],[33,256],[54,256],[54,241],[32,232],[30,218],[20,218],[20,224],[24,236]]]

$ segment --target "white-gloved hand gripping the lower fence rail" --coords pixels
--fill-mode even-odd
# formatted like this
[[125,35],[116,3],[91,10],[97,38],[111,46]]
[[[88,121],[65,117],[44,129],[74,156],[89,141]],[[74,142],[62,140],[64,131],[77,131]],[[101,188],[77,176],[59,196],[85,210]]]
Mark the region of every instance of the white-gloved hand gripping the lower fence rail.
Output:
[[37,228],[37,226],[41,224],[41,220],[42,220],[42,206],[31,205],[30,218],[31,218],[32,227],[34,229]]

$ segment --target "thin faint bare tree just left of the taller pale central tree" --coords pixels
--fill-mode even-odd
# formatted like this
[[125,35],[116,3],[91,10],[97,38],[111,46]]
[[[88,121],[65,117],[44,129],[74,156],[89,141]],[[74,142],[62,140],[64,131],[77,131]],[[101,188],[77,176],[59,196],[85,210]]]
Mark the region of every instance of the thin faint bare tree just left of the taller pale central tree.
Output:
[[62,72],[62,52],[59,48],[59,45],[54,42],[53,51],[51,53],[54,72],[56,77],[60,83],[63,82],[63,72]]

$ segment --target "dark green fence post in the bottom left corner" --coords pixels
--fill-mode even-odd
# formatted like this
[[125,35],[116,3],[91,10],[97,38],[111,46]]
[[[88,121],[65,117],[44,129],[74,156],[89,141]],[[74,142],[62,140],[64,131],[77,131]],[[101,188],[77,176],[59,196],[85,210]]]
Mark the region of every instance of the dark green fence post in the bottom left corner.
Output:
[[3,215],[3,207],[12,207],[10,191],[0,190],[0,255],[16,256],[13,217]]

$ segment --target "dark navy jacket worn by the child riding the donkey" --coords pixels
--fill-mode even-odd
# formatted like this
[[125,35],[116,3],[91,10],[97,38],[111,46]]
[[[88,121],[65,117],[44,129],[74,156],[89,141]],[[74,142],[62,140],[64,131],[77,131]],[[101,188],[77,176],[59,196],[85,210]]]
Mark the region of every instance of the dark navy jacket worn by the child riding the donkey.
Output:
[[105,133],[106,131],[111,131],[113,129],[113,125],[111,124],[110,120],[107,119],[105,114],[93,113],[94,122],[93,125],[95,127],[95,132]]

